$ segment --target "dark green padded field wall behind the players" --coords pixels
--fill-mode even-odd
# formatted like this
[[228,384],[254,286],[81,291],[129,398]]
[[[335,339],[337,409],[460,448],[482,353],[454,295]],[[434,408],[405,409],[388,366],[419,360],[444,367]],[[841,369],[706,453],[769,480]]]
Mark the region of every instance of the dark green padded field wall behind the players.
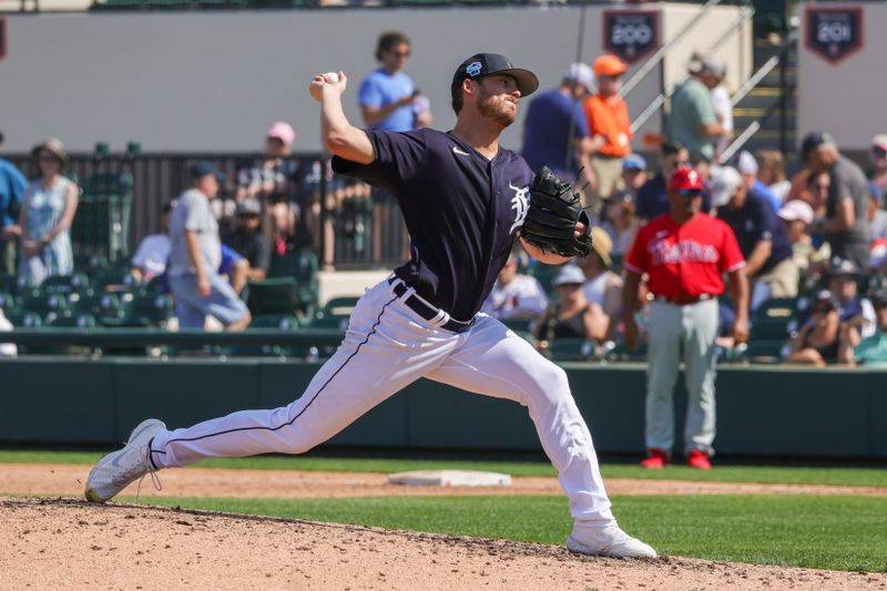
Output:
[[[115,444],[145,417],[174,428],[284,406],[318,367],[276,359],[2,360],[0,442]],[[598,450],[641,452],[643,367],[564,367]],[[684,391],[679,384],[679,442]],[[539,449],[520,405],[428,380],[395,395],[330,445]],[[722,368],[715,447],[724,455],[887,457],[887,371]]]

